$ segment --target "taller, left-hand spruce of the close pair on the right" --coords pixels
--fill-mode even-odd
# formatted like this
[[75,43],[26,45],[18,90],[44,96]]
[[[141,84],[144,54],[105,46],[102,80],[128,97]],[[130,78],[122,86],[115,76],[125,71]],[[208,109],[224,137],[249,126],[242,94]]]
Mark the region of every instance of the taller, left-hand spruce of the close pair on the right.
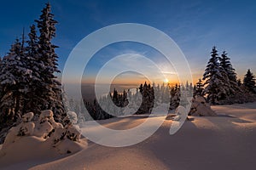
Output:
[[212,48],[211,58],[207,63],[207,68],[203,75],[203,80],[206,82],[204,86],[206,87],[203,91],[207,94],[208,102],[218,104],[218,101],[224,99],[229,92],[229,83],[227,83],[227,75],[224,74],[225,71],[219,65],[218,51],[216,47]]

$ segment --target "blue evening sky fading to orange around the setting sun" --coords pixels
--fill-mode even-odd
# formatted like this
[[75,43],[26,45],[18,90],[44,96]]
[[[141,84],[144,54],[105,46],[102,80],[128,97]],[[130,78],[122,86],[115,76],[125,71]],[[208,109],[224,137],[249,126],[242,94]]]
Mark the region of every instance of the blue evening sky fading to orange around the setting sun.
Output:
[[[38,19],[47,1],[3,1],[0,6],[0,56],[8,53],[22,28],[26,33]],[[219,54],[226,51],[238,77],[247,69],[256,74],[256,2],[236,0],[49,0],[52,13],[59,23],[53,42],[60,48],[59,66],[64,68],[73,48],[93,31],[119,23],[138,23],[165,32],[182,50],[189,62],[194,81],[202,77],[213,46]],[[166,65],[162,54],[136,42],[119,42],[98,51],[84,70],[84,82],[93,82],[102,66],[114,56],[140,54],[152,59],[168,74],[170,81],[177,80],[173,65]],[[142,67],[134,59],[135,67]],[[124,60],[119,66],[125,65]],[[154,71],[148,68],[145,71]],[[142,75],[124,73],[121,83]],[[143,77],[146,78],[146,77]],[[133,83],[132,81],[130,81]]]

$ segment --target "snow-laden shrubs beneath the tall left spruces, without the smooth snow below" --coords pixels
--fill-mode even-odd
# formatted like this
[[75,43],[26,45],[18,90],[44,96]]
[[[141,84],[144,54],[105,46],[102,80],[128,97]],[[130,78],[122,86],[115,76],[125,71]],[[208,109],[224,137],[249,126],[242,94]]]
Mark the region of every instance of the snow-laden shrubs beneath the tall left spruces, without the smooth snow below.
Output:
[[[87,144],[84,140],[81,141],[81,133],[79,133],[77,127],[74,127],[71,123],[63,127],[61,123],[55,122],[53,115],[50,110],[42,111],[35,122],[32,121],[32,112],[23,115],[22,122],[9,130],[3,143],[3,149],[0,150],[0,156],[6,155],[13,144],[19,144],[20,139],[26,137],[42,140],[42,144],[46,145],[46,148],[49,150],[55,148],[55,151],[59,154],[82,150]],[[76,114],[73,112],[72,116],[76,117]],[[30,147],[30,145],[27,144],[24,147]]]

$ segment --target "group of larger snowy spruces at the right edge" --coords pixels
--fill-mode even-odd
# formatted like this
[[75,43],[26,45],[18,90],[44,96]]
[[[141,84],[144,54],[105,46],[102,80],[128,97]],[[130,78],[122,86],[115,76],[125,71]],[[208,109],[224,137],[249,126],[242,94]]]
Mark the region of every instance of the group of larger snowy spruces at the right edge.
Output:
[[207,63],[202,80],[196,83],[195,94],[207,98],[212,105],[244,103],[255,100],[256,87],[253,73],[250,69],[241,79],[237,79],[236,70],[224,51],[218,55],[216,47],[212,48],[211,57]]

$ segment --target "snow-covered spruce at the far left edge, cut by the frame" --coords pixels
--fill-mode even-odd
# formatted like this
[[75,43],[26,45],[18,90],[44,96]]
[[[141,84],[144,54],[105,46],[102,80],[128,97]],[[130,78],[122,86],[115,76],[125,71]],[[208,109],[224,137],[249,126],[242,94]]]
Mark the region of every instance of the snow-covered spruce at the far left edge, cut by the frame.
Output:
[[22,114],[24,99],[27,93],[27,83],[31,72],[26,68],[24,37],[22,42],[16,39],[9,54],[1,62],[0,84],[0,124],[10,127]]

